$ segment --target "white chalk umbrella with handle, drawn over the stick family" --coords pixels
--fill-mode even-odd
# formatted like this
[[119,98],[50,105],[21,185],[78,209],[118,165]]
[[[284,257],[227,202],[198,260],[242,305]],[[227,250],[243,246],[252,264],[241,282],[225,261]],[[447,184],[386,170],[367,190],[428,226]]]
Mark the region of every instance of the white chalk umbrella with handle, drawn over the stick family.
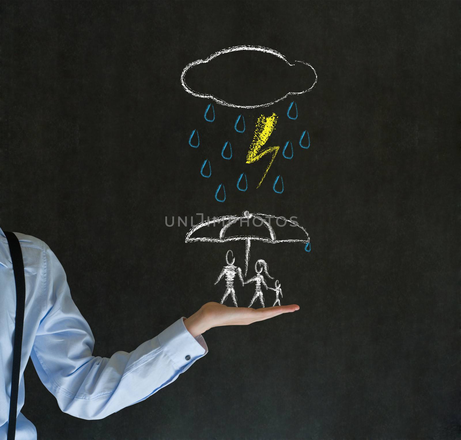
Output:
[[[265,226],[265,233],[264,235],[231,235],[231,232],[237,228],[237,226],[233,226],[231,229],[232,225],[236,225],[237,223],[247,223],[250,219],[258,219],[260,221],[260,225]],[[271,225],[271,219],[274,219],[277,222],[277,219],[283,219],[284,222],[290,223],[291,226],[296,226],[297,228],[300,228],[302,232],[305,234],[305,237],[302,237],[302,239],[299,238],[293,238],[293,239],[283,239],[283,240],[278,240],[274,231],[274,228]],[[219,235],[218,237],[203,237],[203,236],[197,236],[200,233],[197,233],[195,235],[195,232],[198,231],[199,229],[209,226],[211,224],[216,224],[216,223],[223,223],[223,227],[219,230]],[[240,231],[241,232],[241,231]],[[303,235],[304,235],[303,234]],[[194,236],[195,235],[195,236]],[[307,252],[310,252],[310,237],[309,234],[307,234],[306,229],[304,229],[299,223],[294,222],[292,220],[289,220],[285,217],[279,217],[279,216],[273,216],[269,214],[260,214],[260,213],[250,213],[248,211],[243,212],[241,216],[222,216],[222,217],[215,217],[212,220],[207,220],[201,223],[196,224],[192,229],[189,230],[189,232],[186,234],[186,243],[189,243],[191,241],[208,241],[211,243],[225,243],[226,241],[240,241],[244,240],[246,241],[246,249],[245,249],[245,275],[247,274],[248,271],[248,260],[250,257],[250,246],[251,246],[251,241],[252,240],[257,240],[257,241],[264,241],[266,243],[286,243],[286,242],[301,242],[301,243],[306,243],[305,250]]]

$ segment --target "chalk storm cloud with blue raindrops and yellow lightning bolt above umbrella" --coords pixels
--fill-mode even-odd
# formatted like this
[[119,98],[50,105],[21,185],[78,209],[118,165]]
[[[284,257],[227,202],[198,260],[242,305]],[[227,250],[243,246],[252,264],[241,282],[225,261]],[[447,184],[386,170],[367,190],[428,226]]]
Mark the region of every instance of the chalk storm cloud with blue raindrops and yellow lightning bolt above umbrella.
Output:
[[[288,66],[295,66],[296,65],[295,63],[297,63],[298,65],[306,66],[308,69],[312,70],[315,76],[315,79],[312,84],[307,84],[306,87],[300,91],[287,92],[282,97],[278,97],[270,102],[264,102],[264,103],[255,104],[251,106],[231,103],[213,94],[207,94],[207,93],[195,91],[187,84],[186,74],[188,73],[189,70],[191,70],[195,66],[209,63],[213,59],[216,59],[217,57],[223,54],[226,54],[226,53],[241,52],[241,51],[254,51],[254,52],[262,52],[262,53],[270,54],[270,55],[277,57],[278,59],[282,59],[284,63],[286,63],[286,65]],[[186,65],[186,67],[184,67],[181,73],[180,81],[181,81],[181,85],[183,86],[184,90],[188,92],[189,94],[192,94],[193,96],[196,96],[198,98],[212,100],[211,103],[208,103],[205,109],[205,112],[203,114],[203,117],[205,121],[209,123],[213,123],[216,120],[216,111],[215,111],[213,102],[216,104],[222,105],[222,106],[233,107],[233,108],[255,109],[255,108],[260,108],[260,107],[268,107],[281,100],[284,100],[290,95],[304,94],[312,90],[312,88],[317,83],[317,72],[315,71],[312,65],[310,65],[309,63],[305,61],[295,61],[295,63],[291,64],[284,57],[284,55],[268,47],[234,46],[234,47],[229,47],[227,49],[223,49],[216,53],[213,53],[206,59],[198,59],[196,61],[193,61],[192,63],[189,63],[188,65]],[[288,106],[288,109],[286,111],[286,117],[289,120],[296,120],[298,118],[298,106],[296,105],[295,101],[290,102],[290,105]],[[270,145],[269,138],[272,132],[274,131],[277,123],[278,123],[278,115],[274,112],[271,112],[270,114],[267,114],[267,115],[261,114],[256,120],[255,127],[254,127],[253,140],[251,141],[248,147],[248,153],[246,155],[245,163],[254,164],[260,159],[265,158],[265,157],[267,157],[269,160],[268,160],[266,169],[264,173],[262,174],[262,176],[260,177],[259,182],[256,184],[255,188],[260,188],[262,182],[264,181],[264,178],[268,174],[280,150],[282,150],[282,157],[284,159],[291,160],[294,157],[293,143],[291,140],[286,141],[283,149],[280,145]],[[245,130],[247,129],[247,126],[246,126],[245,117],[243,114],[239,114],[236,117],[235,123],[233,123],[233,127],[237,133],[245,132]],[[304,130],[299,135],[299,137],[296,136],[296,139],[298,139],[299,147],[301,147],[302,149],[307,149],[311,145],[310,136],[309,136],[309,132],[307,131],[307,129]],[[200,135],[197,129],[193,129],[190,132],[189,146],[192,148],[199,148],[201,146]],[[228,160],[231,160],[232,157],[233,155],[232,155],[231,142],[229,140],[223,139],[222,148],[221,148],[221,158],[228,161]],[[200,175],[202,177],[205,177],[206,179],[210,179],[212,175],[211,163],[208,158],[203,158],[203,162],[202,162],[201,169],[200,169]],[[238,191],[245,192],[248,190],[248,176],[245,172],[242,172],[238,177],[236,177],[236,181],[234,182],[236,182],[235,185]],[[225,182],[222,182],[222,181],[219,182],[218,186],[214,188],[216,188],[214,192],[214,199],[220,203],[224,203],[226,200]],[[285,189],[284,179],[281,175],[278,175],[275,177],[273,184],[272,184],[272,189],[273,189],[273,192],[276,194],[282,194],[284,192],[284,189]]]

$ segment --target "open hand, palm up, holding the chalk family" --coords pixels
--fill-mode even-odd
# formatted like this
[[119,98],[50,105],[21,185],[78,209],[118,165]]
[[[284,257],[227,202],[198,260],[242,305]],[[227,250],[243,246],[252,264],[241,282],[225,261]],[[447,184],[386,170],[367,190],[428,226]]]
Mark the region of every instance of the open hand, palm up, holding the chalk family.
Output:
[[277,305],[274,307],[227,307],[227,305],[209,302],[201,306],[189,318],[184,320],[184,325],[192,336],[205,333],[212,327],[223,325],[248,325],[256,321],[264,321],[282,313],[299,310],[299,305]]

